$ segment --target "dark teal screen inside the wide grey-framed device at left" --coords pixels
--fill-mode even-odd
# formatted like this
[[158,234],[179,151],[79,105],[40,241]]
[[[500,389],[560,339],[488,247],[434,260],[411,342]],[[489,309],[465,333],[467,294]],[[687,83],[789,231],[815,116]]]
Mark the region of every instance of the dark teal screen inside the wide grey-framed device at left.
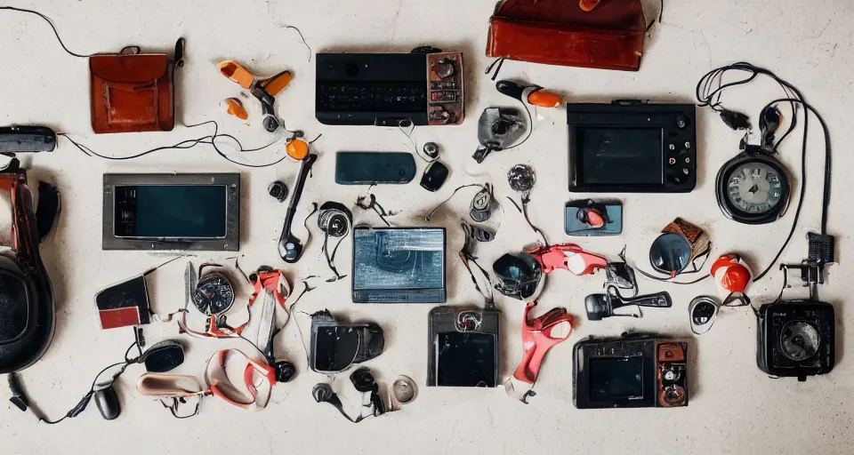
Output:
[[[117,187],[116,235],[137,238],[222,238],[226,188],[222,185]],[[133,219],[129,222],[129,218]]]

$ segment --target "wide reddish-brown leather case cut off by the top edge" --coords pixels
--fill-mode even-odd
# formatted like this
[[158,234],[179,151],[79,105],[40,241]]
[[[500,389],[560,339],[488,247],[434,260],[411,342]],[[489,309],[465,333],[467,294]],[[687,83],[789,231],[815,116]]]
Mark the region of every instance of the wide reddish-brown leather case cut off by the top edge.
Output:
[[641,0],[577,1],[499,2],[489,23],[487,56],[637,71],[646,32]]

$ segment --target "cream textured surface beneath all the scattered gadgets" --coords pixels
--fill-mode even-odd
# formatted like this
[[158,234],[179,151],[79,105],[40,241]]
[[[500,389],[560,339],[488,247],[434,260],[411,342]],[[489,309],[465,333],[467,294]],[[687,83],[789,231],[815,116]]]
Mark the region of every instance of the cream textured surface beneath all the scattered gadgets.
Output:
[[[648,17],[658,12],[657,1],[646,1]],[[400,188],[376,188],[379,200],[401,213],[397,225],[415,224],[421,213],[447,197],[465,182],[484,181],[465,172],[488,172],[501,195],[510,195],[504,173],[512,165],[535,167],[537,183],[531,218],[544,228],[552,242],[570,241],[563,234],[563,204],[567,187],[565,114],[562,109],[540,110],[531,140],[512,152],[490,156],[476,166],[471,153],[477,145],[477,117],[488,106],[512,106],[483,75],[488,60],[483,55],[487,20],[493,0],[259,0],[115,2],[19,2],[55,20],[60,34],[75,52],[116,52],[128,44],[146,50],[168,50],[178,36],[187,38],[186,66],[180,70],[181,104],[178,118],[184,124],[215,119],[223,131],[243,139],[247,146],[270,141],[260,124],[239,125],[225,118],[220,100],[236,96],[238,86],[217,74],[214,62],[241,61],[259,74],[282,68],[294,72],[294,82],[278,97],[278,113],[292,128],[310,137],[322,132],[314,149],[320,154],[304,202],[337,200],[352,204],[364,188],[337,187],[333,183],[337,150],[407,150],[406,138],[394,130],[360,127],[326,127],[313,116],[313,62],[291,24],[302,29],[312,49],[391,50],[407,52],[421,44],[465,52],[467,119],[462,126],[422,128],[415,132],[419,147],[435,140],[451,178],[435,195],[417,182]],[[141,366],[131,368],[118,386],[124,412],[112,422],[101,419],[94,406],[59,427],[36,424],[5,401],[0,402],[0,452],[2,453],[686,453],[686,454],[846,454],[854,443],[854,369],[847,336],[854,313],[847,309],[850,279],[849,197],[854,140],[850,126],[852,29],[854,9],[846,0],[682,0],[665,2],[664,23],[657,25],[646,43],[639,73],[580,68],[558,68],[508,61],[501,76],[542,84],[566,100],[607,101],[613,98],[652,98],[691,102],[697,79],[707,70],[738,60],[772,68],[805,94],[826,117],[834,140],[834,197],[830,231],[837,235],[842,264],[830,268],[829,283],[821,296],[837,311],[838,366],[829,375],[798,383],[794,379],[769,379],[755,365],[756,321],[747,309],[728,310],[708,334],[693,341],[690,406],[666,410],[577,411],[571,400],[572,345],[590,334],[617,335],[626,329],[689,335],[687,307],[696,295],[713,292],[711,281],[685,288],[641,282],[641,291],[671,291],[674,307],[649,310],[642,320],[614,318],[588,323],[584,296],[598,291],[602,276],[578,278],[557,273],[549,278],[540,299],[543,310],[566,306],[577,316],[572,339],[552,350],[530,405],[509,399],[502,389],[428,389],[421,387],[415,403],[403,411],[353,425],[326,404],[314,403],[311,387],[320,375],[306,371],[302,346],[294,325],[279,338],[278,352],[294,360],[299,376],[274,390],[272,403],[257,413],[246,413],[217,401],[203,403],[200,416],[175,420],[160,404],[136,394],[135,379]],[[14,12],[0,12],[0,124],[49,124],[60,132],[74,133],[103,154],[129,155],[136,151],[205,135],[202,129],[181,126],[171,133],[94,136],[89,127],[88,69],[86,60],[61,51],[42,20]],[[735,89],[725,98],[731,108],[751,116],[781,93],[769,81],[749,89]],[[254,119],[260,118],[254,102],[247,102]],[[794,211],[785,220],[764,227],[746,227],[726,220],[714,202],[713,183],[718,168],[733,156],[738,135],[707,110],[698,110],[699,177],[689,195],[626,195],[624,235],[612,239],[580,240],[590,251],[614,259],[624,244],[630,259],[646,267],[649,243],[676,216],[707,228],[714,253],[740,251],[754,268],[764,267],[787,231]],[[783,259],[800,261],[806,254],[804,236],[818,228],[823,146],[818,125],[810,137],[809,199],[802,223]],[[800,134],[800,130],[799,130]],[[786,140],[782,158],[790,169],[799,162],[800,136]],[[284,153],[284,147],[235,156],[264,163]],[[242,172],[243,214],[240,262],[246,269],[262,264],[284,267],[275,251],[285,204],[266,195],[271,180],[292,185],[298,165],[238,169],[210,148],[159,152],[131,162],[106,162],[89,158],[60,140],[51,155],[28,159],[34,176],[46,176],[59,185],[63,212],[59,228],[44,244],[44,259],[56,290],[56,338],[44,358],[23,378],[32,398],[44,411],[59,416],[77,403],[95,371],[117,361],[131,342],[129,330],[101,331],[93,295],[109,283],[157,265],[163,256],[142,252],[101,251],[101,174],[104,172]],[[422,164],[419,164],[421,166]],[[455,251],[461,244],[456,220],[465,213],[471,195],[460,196],[434,221],[449,228],[449,303],[479,303],[477,292]],[[374,223],[372,213],[356,212],[358,222]],[[482,246],[486,265],[504,251],[519,249],[535,236],[520,216],[508,212],[495,244]],[[317,239],[318,237],[314,237]],[[292,277],[327,270],[318,257],[319,243],[311,243],[299,267],[286,267]],[[217,258],[222,259],[225,255]],[[350,242],[338,261],[348,270]],[[151,282],[158,311],[181,305],[182,264],[166,267]],[[751,290],[754,302],[773,299],[781,275],[771,273]],[[789,295],[796,296],[800,290]],[[369,365],[383,379],[408,374],[423,386],[426,378],[426,316],[428,306],[355,306],[350,303],[350,281],[324,284],[302,300],[307,312],[328,307],[352,319],[383,324],[387,351]],[[502,374],[511,374],[521,354],[519,325],[523,305],[500,299],[504,312]],[[296,316],[303,331],[304,315]],[[151,324],[149,342],[173,337],[177,327]],[[200,374],[205,360],[222,342],[191,340],[187,362],[178,372]],[[347,381],[343,377],[341,383]],[[5,396],[5,390],[0,393]]]

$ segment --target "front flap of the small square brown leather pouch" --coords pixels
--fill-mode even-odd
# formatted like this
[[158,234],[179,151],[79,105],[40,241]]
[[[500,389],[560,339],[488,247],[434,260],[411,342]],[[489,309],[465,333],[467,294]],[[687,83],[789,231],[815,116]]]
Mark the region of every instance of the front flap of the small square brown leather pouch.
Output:
[[92,76],[119,83],[146,83],[165,76],[169,60],[165,53],[138,55],[94,55],[89,58]]

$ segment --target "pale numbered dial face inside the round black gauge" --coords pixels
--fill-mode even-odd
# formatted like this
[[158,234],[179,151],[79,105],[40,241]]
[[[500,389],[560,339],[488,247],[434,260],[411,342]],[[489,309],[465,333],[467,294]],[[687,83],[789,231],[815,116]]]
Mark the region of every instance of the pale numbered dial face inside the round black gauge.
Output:
[[783,179],[777,169],[760,161],[738,164],[729,172],[727,198],[741,212],[760,215],[781,208]]

